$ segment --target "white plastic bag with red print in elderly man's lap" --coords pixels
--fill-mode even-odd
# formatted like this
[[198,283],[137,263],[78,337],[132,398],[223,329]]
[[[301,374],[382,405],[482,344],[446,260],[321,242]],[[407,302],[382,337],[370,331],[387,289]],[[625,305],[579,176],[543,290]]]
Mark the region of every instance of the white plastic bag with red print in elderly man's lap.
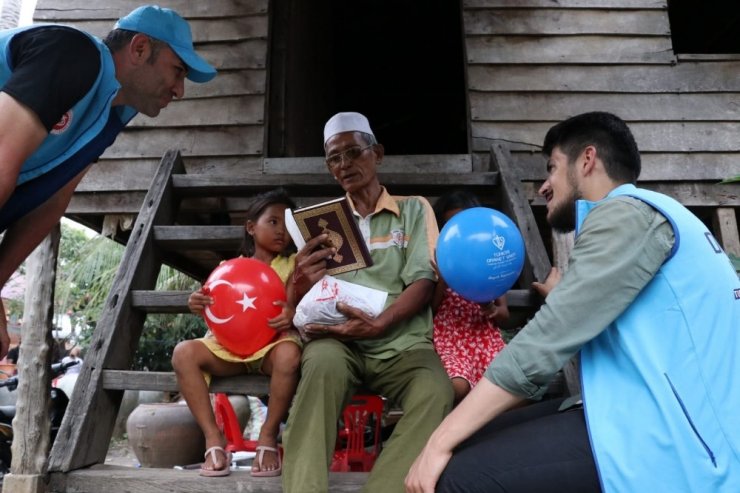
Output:
[[337,310],[337,302],[377,317],[383,311],[387,298],[388,293],[385,291],[324,276],[298,303],[293,325],[305,339],[306,324],[336,325],[347,321],[347,317]]

